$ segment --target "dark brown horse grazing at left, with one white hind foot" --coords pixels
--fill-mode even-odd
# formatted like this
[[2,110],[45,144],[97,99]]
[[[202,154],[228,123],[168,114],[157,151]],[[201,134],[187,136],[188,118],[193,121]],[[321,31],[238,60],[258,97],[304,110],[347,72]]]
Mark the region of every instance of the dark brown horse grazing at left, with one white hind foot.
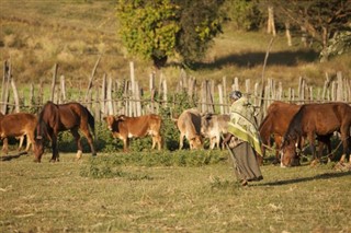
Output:
[[91,113],[79,103],[67,103],[56,105],[53,102],[47,102],[38,116],[35,138],[35,162],[41,162],[44,153],[45,140],[52,141],[53,162],[59,161],[57,135],[60,131],[70,130],[78,145],[77,158],[82,154],[79,130],[87,137],[90,144],[92,155],[97,155],[92,135],[94,135],[94,118]]

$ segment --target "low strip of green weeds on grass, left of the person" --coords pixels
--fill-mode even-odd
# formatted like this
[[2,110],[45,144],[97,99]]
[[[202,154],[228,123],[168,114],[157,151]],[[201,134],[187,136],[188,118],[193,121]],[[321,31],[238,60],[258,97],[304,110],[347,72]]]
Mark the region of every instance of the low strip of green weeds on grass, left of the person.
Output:
[[154,151],[109,154],[109,156],[90,158],[88,163],[81,166],[80,175],[91,178],[127,177],[133,179],[149,179],[147,175],[133,175],[124,172],[126,166],[204,166],[217,164],[226,160],[226,151],[200,150],[200,151]]

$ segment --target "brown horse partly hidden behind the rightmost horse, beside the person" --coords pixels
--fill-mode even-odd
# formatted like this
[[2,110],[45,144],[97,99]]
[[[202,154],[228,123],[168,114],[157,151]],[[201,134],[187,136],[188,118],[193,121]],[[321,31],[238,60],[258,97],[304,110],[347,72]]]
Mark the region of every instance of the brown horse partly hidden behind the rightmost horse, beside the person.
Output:
[[[287,127],[293,119],[294,115],[299,110],[302,105],[288,104],[285,102],[274,101],[267,109],[267,116],[259,127],[261,140],[262,140],[262,152],[265,154],[265,145],[272,147],[271,137],[273,136],[275,143],[275,161],[280,163],[280,149],[282,147],[283,137],[287,130]],[[327,145],[329,153],[331,152],[330,136],[317,137],[318,151],[321,155],[324,145]],[[304,138],[301,138],[298,147],[301,148],[304,143]]]

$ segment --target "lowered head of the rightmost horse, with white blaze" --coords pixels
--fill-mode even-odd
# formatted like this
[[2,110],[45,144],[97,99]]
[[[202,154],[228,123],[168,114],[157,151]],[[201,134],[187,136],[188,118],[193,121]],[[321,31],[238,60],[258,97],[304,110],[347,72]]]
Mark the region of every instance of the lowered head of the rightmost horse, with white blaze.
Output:
[[281,167],[296,166],[299,164],[299,158],[296,152],[297,149],[297,138],[284,137],[281,151]]

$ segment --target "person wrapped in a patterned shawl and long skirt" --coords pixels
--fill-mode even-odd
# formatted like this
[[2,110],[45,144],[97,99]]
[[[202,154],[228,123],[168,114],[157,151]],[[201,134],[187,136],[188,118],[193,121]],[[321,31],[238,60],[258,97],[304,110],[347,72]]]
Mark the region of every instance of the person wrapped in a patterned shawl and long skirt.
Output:
[[231,101],[228,136],[225,138],[231,155],[237,178],[242,186],[251,180],[263,178],[257,161],[257,154],[262,156],[261,139],[254,117],[254,108],[241,92],[229,94]]

